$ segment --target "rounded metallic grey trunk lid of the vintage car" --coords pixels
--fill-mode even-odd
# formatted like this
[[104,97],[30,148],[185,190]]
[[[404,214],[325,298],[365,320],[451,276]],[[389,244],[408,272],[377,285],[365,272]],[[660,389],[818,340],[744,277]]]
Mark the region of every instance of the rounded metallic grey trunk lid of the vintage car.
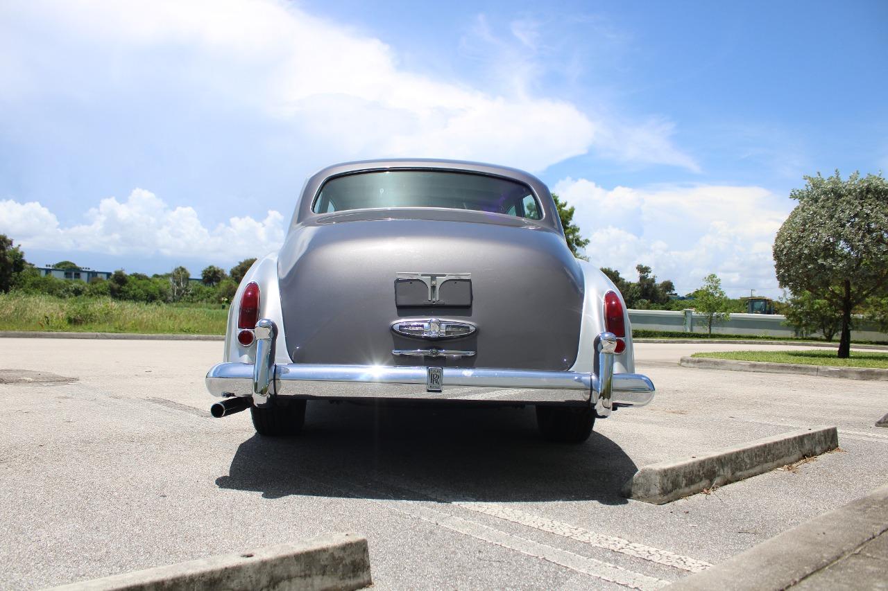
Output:
[[[332,215],[293,228],[278,267],[290,359],[541,370],[572,366],[583,280],[564,239],[524,220],[503,224],[502,216],[496,217],[499,223],[488,223],[477,212],[432,217],[437,219],[392,219],[390,212],[376,218]],[[468,274],[471,304],[464,305],[465,285],[457,281],[456,299],[445,295],[435,305],[417,305],[414,299],[398,306],[396,281],[404,272]],[[391,328],[398,320],[430,318],[470,322],[477,331],[432,341]],[[392,355],[395,349],[430,348],[476,355]]]

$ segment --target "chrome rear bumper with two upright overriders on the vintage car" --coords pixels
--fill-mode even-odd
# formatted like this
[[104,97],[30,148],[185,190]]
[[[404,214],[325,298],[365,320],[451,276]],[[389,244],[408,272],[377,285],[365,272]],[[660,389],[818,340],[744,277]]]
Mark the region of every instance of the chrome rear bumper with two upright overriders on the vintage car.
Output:
[[617,406],[645,406],[654,383],[642,374],[614,374],[616,336],[601,333],[597,342],[599,375],[484,367],[345,366],[274,363],[277,327],[269,319],[256,325],[256,363],[219,363],[207,373],[207,390],[226,399],[213,416],[274,398],[448,400],[519,405],[595,407],[601,417]]

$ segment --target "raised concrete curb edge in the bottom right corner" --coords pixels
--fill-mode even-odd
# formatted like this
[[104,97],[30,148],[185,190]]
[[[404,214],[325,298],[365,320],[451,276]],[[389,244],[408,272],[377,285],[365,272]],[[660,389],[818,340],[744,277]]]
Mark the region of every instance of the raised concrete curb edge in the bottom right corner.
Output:
[[[669,588],[675,591],[776,591],[804,579],[815,582],[818,572],[885,532],[888,532],[888,486],[765,540],[707,571],[680,579]],[[845,582],[848,588],[855,587],[854,581]]]

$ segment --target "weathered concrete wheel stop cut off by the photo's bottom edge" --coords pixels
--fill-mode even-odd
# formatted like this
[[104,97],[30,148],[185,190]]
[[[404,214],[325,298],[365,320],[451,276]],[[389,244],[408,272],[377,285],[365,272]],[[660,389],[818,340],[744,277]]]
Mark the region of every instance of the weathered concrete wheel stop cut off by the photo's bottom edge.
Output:
[[336,533],[295,544],[80,581],[48,591],[320,591],[361,589],[371,584],[367,540],[353,533]]

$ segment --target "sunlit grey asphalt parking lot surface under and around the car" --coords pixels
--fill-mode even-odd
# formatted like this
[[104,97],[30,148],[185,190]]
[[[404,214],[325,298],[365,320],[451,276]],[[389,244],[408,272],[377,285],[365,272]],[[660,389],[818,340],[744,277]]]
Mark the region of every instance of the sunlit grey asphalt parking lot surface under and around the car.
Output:
[[[532,408],[312,403],[293,439],[210,418],[222,343],[0,338],[0,587],[29,589],[359,532],[400,588],[656,588],[888,482],[884,382],[680,367],[584,445]],[[844,451],[654,506],[619,490],[648,463],[835,424]]]

